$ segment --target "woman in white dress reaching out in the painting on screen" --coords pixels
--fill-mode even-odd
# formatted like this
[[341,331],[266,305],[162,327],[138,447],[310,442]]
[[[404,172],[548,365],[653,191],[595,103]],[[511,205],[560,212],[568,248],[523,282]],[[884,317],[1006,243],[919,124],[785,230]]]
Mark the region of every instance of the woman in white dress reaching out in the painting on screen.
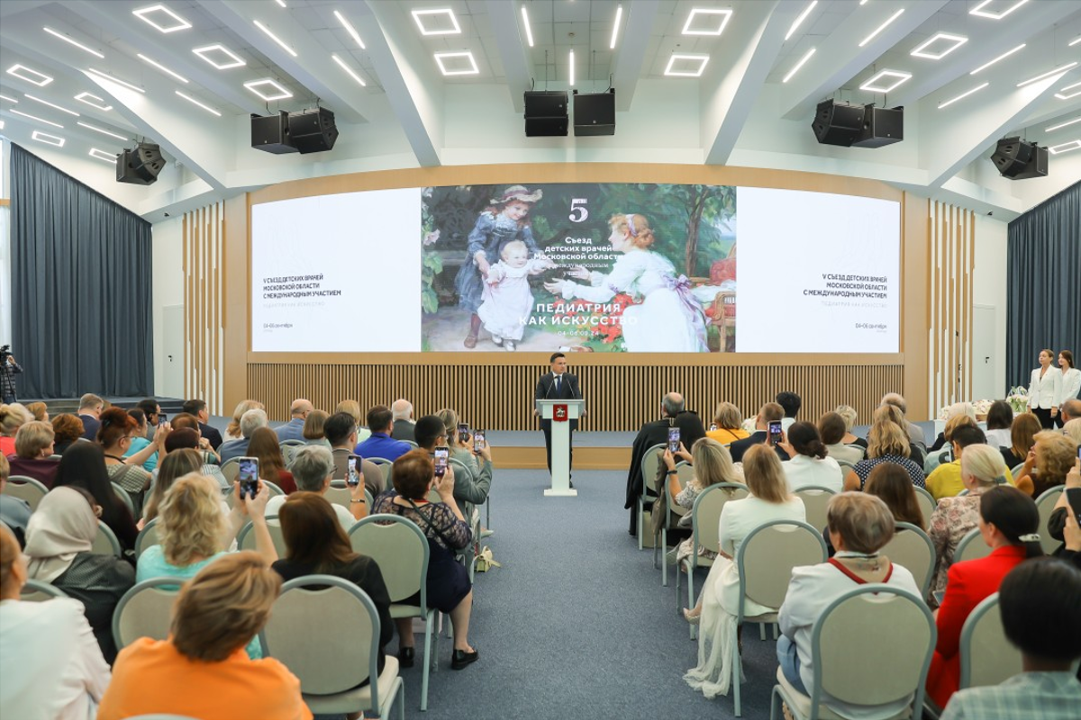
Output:
[[605,275],[578,267],[571,276],[588,285],[565,280],[545,283],[545,289],[589,302],[608,302],[617,293],[640,299],[623,312],[627,352],[708,352],[702,302],[712,301],[722,288],[692,289],[686,276],[677,276],[667,258],[649,249],[655,239],[644,215],[614,215],[609,226],[612,249],[623,253],[612,272]]

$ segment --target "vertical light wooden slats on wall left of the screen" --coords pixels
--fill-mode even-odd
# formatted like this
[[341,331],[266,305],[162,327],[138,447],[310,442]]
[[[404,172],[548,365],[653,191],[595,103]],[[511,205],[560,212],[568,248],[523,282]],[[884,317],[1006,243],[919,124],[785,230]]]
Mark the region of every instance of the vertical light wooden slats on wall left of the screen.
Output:
[[206,400],[214,415],[225,413],[224,246],[223,203],[184,215],[184,396]]

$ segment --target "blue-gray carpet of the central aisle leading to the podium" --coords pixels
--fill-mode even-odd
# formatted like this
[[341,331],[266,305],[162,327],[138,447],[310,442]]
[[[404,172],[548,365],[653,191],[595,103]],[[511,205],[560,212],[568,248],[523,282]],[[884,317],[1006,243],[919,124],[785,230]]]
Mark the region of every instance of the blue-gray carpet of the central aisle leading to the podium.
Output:
[[[503,563],[478,573],[470,641],[480,660],[450,669],[440,641],[428,711],[419,712],[421,657],[402,670],[413,718],[732,718],[732,698],[705,699],[682,675],[697,644],[662,587],[652,551],[638,551],[623,510],[626,474],[577,472],[577,498],[544,498],[546,473],[498,471],[485,540]],[[669,570],[669,573],[671,570]],[[699,571],[696,587],[705,579]],[[685,586],[683,588],[685,596]],[[417,637],[417,642],[423,641]],[[388,648],[395,651],[397,640]],[[769,717],[775,643],[744,637],[743,717]],[[397,717],[395,715],[393,717]]]

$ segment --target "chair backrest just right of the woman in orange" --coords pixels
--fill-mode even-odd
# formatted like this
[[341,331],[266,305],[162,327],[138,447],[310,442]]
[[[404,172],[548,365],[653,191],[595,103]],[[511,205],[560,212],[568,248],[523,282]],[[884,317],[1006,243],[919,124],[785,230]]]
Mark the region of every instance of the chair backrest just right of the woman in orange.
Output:
[[332,695],[371,678],[371,707],[378,707],[379,615],[355,583],[333,575],[289,581],[259,637],[264,652],[297,677],[302,693]]

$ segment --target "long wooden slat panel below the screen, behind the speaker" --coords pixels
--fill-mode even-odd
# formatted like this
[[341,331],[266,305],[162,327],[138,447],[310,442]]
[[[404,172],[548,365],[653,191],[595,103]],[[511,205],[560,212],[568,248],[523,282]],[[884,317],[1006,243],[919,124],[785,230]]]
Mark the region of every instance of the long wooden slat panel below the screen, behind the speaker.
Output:
[[[572,359],[573,356],[572,356]],[[886,392],[902,389],[903,369],[893,365],[670,366],[576,365],[589,417],[583,430],[637,431],[659,416],[669,391],[686,397],[689,409],[708,423],[721,400],[753,415],[777,392],[803,398],[800,417],[817,419],[839,403],[853,406],[865,421]],[[416,415],[456,409],[475,427],[533,430],[533,388],[546,366],[530,365],[335,365],[250,363],[250,397],[284,419],[294,397],[333,411],[345,398],[362,408],[413,402]]]

